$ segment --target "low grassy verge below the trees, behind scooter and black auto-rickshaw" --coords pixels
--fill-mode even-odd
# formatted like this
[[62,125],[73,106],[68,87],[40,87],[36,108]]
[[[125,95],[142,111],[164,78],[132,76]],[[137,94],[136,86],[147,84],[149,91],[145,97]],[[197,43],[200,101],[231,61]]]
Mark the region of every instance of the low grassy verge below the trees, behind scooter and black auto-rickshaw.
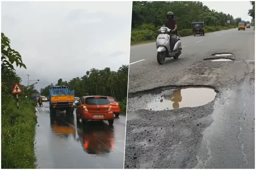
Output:
[[[147,42],[155,42],[157,36],[159,35],[158,29],[159,27],[155,27],[152,24],[142,24],[137,26],[136,28],[132,29],[131,31],[131,45],[140,44],[140,43],[147,43]],[[236,26],[205,26],[205,33],[211,33],[221,30],[228,30],[236,28]],[[178,34],[181,37],[192,36],[192,28],[191,29],[182,29],[178,30]]]

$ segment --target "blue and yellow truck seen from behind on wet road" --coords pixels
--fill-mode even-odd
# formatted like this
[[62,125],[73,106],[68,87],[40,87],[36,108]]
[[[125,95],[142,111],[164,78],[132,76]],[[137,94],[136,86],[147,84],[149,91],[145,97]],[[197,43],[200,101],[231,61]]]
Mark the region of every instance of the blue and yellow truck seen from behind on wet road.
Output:
[[50,113],[56,114],[56,111],[64,111],[73,114],[75,102],[75,91],[69,90],[68,86],[52,86],[49,91]]

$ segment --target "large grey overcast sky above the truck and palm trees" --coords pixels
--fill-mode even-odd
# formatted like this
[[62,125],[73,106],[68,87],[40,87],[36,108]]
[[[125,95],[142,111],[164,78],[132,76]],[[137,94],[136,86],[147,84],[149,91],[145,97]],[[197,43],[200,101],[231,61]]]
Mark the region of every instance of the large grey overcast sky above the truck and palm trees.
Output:
[[29,74],[40,90],[91,68],[129,64],[132,2],[1,3],[1,32],[27,66],[16,69],[22,84]]

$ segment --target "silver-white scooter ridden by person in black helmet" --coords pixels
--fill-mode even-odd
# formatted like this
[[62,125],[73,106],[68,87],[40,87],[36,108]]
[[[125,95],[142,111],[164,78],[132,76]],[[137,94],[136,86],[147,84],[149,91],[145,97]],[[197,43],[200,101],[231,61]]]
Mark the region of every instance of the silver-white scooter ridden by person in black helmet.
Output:
[[177,59],[182,50],[180,36],[173,36],[176,37],[176,40],[173,49],[170,49],[169,34],[172,34],[173,30],[167,27],[161,27],[158,32],[160,34],[156,39],[157,62],[159,64],[164,64],[166,57],[173,57],[174,59]]

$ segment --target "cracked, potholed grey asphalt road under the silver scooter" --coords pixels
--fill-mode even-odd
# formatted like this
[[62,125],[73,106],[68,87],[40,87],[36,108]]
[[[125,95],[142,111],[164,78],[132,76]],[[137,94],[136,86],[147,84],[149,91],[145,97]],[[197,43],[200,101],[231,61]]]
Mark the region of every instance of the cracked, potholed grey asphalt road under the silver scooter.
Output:
[[144,60],[129,68],[125,168],[255,168],[254,34],[183,37],[163,65],[155,43],[131,47],[130,62]]

